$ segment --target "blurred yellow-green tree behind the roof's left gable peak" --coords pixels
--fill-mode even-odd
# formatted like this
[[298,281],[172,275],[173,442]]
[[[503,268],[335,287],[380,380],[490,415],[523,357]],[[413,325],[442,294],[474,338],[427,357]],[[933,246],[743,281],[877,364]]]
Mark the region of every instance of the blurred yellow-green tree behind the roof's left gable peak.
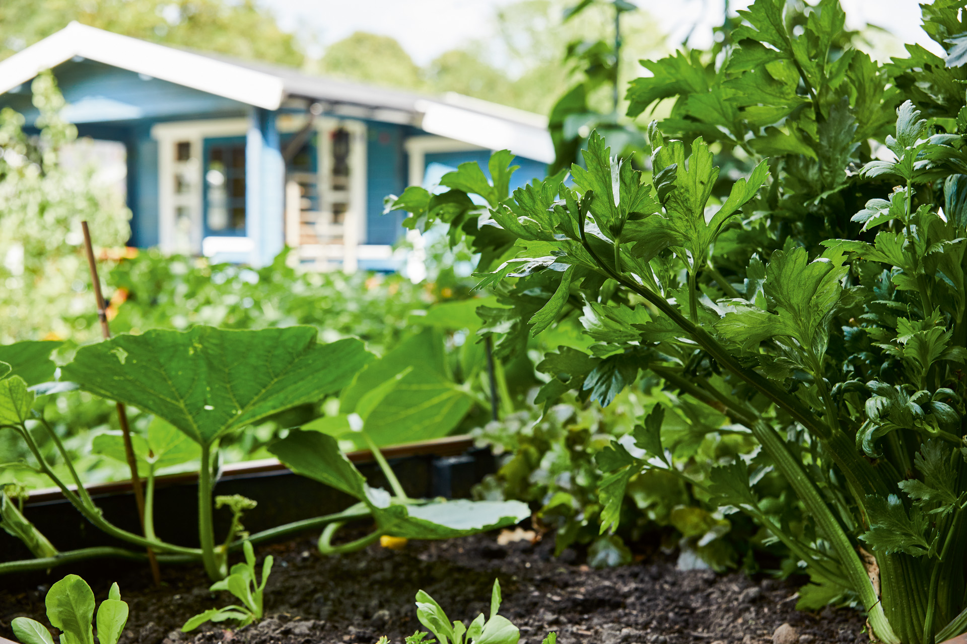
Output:
[[0,59],[76,20],[151,42],[301,66],[301,43],[256,0],[2,0]]

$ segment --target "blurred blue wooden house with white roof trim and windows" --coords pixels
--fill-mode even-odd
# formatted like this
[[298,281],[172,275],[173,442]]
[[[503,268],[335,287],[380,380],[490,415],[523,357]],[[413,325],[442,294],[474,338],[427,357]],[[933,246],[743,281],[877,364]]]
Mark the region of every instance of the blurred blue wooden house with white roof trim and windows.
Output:
[[394,269],[402,213],[383,198],[510,149],[543,177],[546,120],[484,100],[413,94],[200,53],[72,23],[0,62],[0,107],[37,116],[53,70],[80,136],[123,144],[134,246],[263,266]]

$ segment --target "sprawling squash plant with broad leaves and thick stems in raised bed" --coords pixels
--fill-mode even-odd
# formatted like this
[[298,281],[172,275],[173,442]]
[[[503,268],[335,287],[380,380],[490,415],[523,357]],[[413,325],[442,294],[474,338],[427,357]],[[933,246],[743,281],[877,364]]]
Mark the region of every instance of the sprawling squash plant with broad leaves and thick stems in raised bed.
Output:
[[[402,433],[414,422],[429,422],[437,413],[434,409],[441,410],[443,418],[440,422],[450,423],[450,427],[453,414],[448,415],[448,409],[452,406],[452,399],[444,397],[439,404],[432,399],[427,401],[425,406],[432,412],[430,416],[409,421],[409,425],[405,417],[373,416],[378,406],[386,406],[385,401],[398,386],[406,384],[406,376],[415,368],[421,368],[422,364],[419,361],[415,366],[397,363],[389,368],[384,362],[382,372],[369,372],[363,368],[372,361],[373,356],[359,340],[319,344],[315,338],[315,329],[308,326],[258,331],[221,330],[207,326],[194,327],[186,332],[151,330],[142,335],[121,335],[98,345],[81,348],[73,362],[62,368],[63,377],[76,380],[82,389],[156,415],[147,436],[135,436],[132,440],[138,466],[145,471],[148,481],[144,537],[122,530],[103,518],[83,488],[60,437],[42,415],[33,411],[35,392],[28,389],[23,378],[11,376],[11,369],[6,363],[3,363],[5,376],[0,379],[0,426],[14,430],[30,449],[37,465],[26,466],[35,468],[53,480],[74,507],[95,526],[133,545],[153,548],[161,561],[200,559],[206,572],[215,581],[228,575],[228,552],[244,547],[240,540],[245,535],[241,515],[252,507],[252,502],[243,497],[215,499],[216,506],[227,506],[233,516],[224,541],[216,545],[212,485],[217,476],[220,438],[292,406],[317,403],[328,394],[342,390],[354,378],[362,378],[357,380],[362,382],[357,387],[358,400],[351,403],[351,417],[354,423],[359,423],[359,427],[354,429],[361,430],[359,434],[373,450],[395,496],[366,486],[362,475],[339,452],[335,438],[318,432],[293,430],[285,440],[277,443],[275,449],[278,454],[285,455],[286,462],[293,463],[297,471],[324,483],[335,484],[337,489],[348,491],[361,503],[342,513],[278,526],[251,535],[253,543],[277,538],[293,530],[328,525],[320,539],[320,548],[325,552],[339,551],[346,549],[346,546],[327,546],[338,527],[347,520],[370,515],[377,519],[380,531],[356,546],[366,546],[380,534],[417,539],[471,534],[515,523],[529,515],[526,506],[515,502],[454,501],[442,504],[409,499],[368,434],[374,426],[372,419],[381,418],[375,427],[382,428],[385,433],[383,438],[387,440],[392,440],[394,428]],[[8,353],[12,352],[15,351],[8,350]],[[390,362],[392,364],[393,360]],[[398,369],[402,371],[397,373]],[[441,381],[432,374],[430,377],[436,378],[433,382]],[[380,382],[380,378],[388,379]],[[422,382],[427,385],[426,380]],[[444,389],[449,390],[452,386],[448,384]],[[466,397],[464,392],[458,394],[457,401]],[[405,406],[397,406],[402,411],[406,410]],[[45,432],[55,444],[76,485],[76,491],[69,489],[53,471],[34,437],[33,430],[36,429]],[[289,455],[287,447],[294,447],[298,453]],[[123,446],[117,435],[98,435],[94,448],[114,458],[124,458]],[[154,532],[155,471],[163,465],[194,459],[200,462],[200,548],[161,542]],[[46,556],[26,562],[2,563],[0,572],[49,567],[61,561],[89,556],[138,556],[124,548],[114,547],[85,548],[64,553],[44,550],[43,536],[36,534],[33,526],[13,510],[15,508],[8,504],[4,527],[26,538],[26,543],[35,553]]]

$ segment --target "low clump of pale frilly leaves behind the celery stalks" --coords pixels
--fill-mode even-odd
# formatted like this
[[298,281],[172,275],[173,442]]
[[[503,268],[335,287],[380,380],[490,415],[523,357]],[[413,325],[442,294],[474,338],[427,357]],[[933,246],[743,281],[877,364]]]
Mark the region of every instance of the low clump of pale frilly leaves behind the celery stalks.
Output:
[[[680,478],[652,470],[630,478],[624,496],[601,506],[598,490],[610,484],[609,473],[596,462],[612,440],[633,444],[635,418],[651,407],[667,416],[665,435],[672,459],[696,480],[705,481],[712,462],[752,451],[754,441],[729,427],[716,409],[648,387],[626,389],[611,405],[587,405],[566,394],[546,412],[540,406],[493,421],[472,435],[490,447],[499,468],[484,478],[479,498],[513,498],[536,504],[535,518],[554,530],[555,552],[573,544],[591,545],[594,566],[630,562],[623,542],[635,542],[661,531],[668,540],[681,537],[682,549],[722,570],[747,554],[748,526],[733,536],[733,523],[710,512]],[[699,494],[701,497],[701,494]],[[616,533],[601,535],[601,522],[614,523]],[[669,543],[674,543],[670,541]],[[701,544],[701,546],[699,546]],[[736,546],[739,547],[737,552]],[[761,546],[761,545],[760,545]]]

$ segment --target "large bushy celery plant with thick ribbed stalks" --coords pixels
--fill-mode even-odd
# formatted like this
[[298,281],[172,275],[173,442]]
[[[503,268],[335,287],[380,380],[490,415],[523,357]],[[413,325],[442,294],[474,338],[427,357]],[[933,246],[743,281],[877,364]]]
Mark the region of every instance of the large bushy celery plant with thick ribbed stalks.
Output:
[[[958,11],[926,10],[927,32],[955,40]],[[741,15],[720,65],[676,54],[632,85],[632,114],[678,98],[649,127],[651,177],[592,134],[572,187],[563,173],[534,182],[462,226],[469,245],[493,248],[481,286],[506,305],[481,312],[500,321],[483,332],[519,350],[576,299],[596,314],[582,321],[595,342],[545,365],[540,402],[576,390],[607,405],[644,371],[760,447],[702,480],[668,457],[660,419],[641,418],[629,445],[598,457],[602,531],[633,477],[664,472],[771,533],[812,579],[801,606],[849,598],[884,642],[940,641],[967,628],[954,546],[967,527],[963,99],[921,119],[890,80],[920,63],[882,68],[850,48],[835,0],[808,9],[802,34],[780,0]],[[962,73],[934,66],[918,87]],[[721,176],[709,141],[744,158],[746,176]],[[434,209],[443,196],[411,209],[415,221],[453,229],[454,209]],[[801,520],[766,502],[772,473]]]

